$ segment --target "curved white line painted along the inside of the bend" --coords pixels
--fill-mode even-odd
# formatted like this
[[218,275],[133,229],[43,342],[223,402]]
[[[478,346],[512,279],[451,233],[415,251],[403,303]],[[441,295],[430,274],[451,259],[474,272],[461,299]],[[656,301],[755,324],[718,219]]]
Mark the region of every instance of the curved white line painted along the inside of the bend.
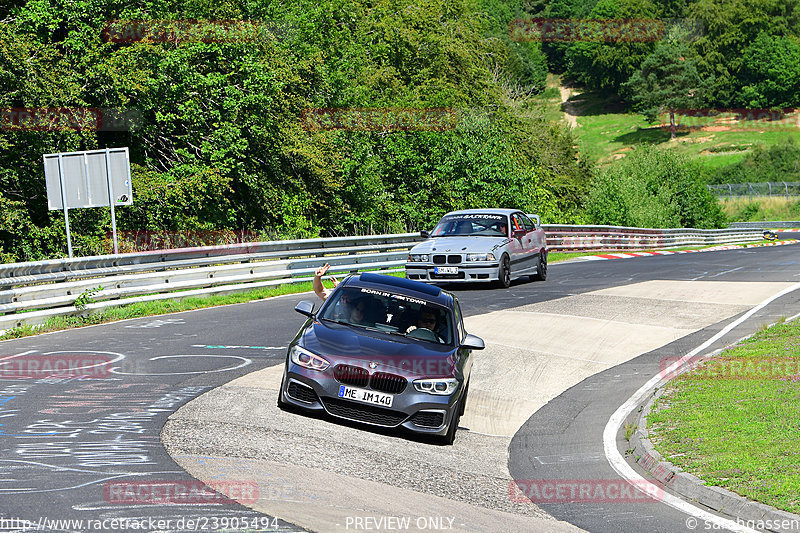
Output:
[[[736,319],[735,321],[731,322],[727,326],[725,326],[720,332],[716,335],[708,339],[706,342],[689,352],[688,354],[684,355],[681,359],[677,360],[675,363],[670,365],[667,369],[666,374],[669,375],[670,372],[674,372],[678,369],[685,361],[688,359],[696,356],[709,346],[711,346],[714,342],[728,334],[733,328],[740,325],[742,322],[753,316],[755,313],[766,307],[771,302],[777,300],[781,296],[785,296],[790,292],[796,291],[800,289],[800,283],[796,283],[790,287],[785,288],[781,292],[774,294],[752,308],[750,311]],[[665,373],[661,372],[650,378],[650,380],[642,385],[639,390],[633,393],[633,396],[628,398],[628,400],[622,404],[619,409],[617,409],[611,418],[608,420],[605,429],[603,430],[603,449],[605,450],[606,459],[608,459],[608,463],[611,465],[617,474],[619,474],[623,479],[625,479],[628,483],[633,485],[637,490],[646,491],[646,490],[661,490],[660,487],[655,485],[654,483],[650,483],[649,481],[645,480],[642,476],[636,473],[636,471],[627,463],[622,455],[617,450],[617,434],[619,433],[619,429],[622,427],[622,424],[625,422],[625,419],[628,415],[633,412],[634,409],[644,400],[647,394],[658,384],[659,381],[663,379],[663,375]],[[712,514],[708,511],[705,511],[697,506],[690,504],[678,498],[677,496],[673,496],[667,492],[663,492],[663,497],[661,501],[670,507],[677,509],[683,513],[688,515],[692,515],[696,518],[705,520],[706,522],[710,522],[716,526],[729,529],[735,532],[742,532],[742,533],[758,533],[754,529],[750,529],[743,524],[738,524],[733,520],[729,520],[727,518],[719,517],[715,514]]]

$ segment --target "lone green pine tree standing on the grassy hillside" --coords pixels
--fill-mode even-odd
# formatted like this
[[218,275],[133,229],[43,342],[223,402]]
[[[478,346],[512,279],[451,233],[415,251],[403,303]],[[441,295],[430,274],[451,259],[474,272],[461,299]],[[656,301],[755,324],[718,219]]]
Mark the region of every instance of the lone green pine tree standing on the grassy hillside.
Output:
[[697,66],[688,57],[686,45],[659,43],[653,53],[623,86],[630,95],[633,109],[654,121],[669,113],[670,138],[676,136],[675,113],[681,108],[697,107],[703,102],[703,88]]

